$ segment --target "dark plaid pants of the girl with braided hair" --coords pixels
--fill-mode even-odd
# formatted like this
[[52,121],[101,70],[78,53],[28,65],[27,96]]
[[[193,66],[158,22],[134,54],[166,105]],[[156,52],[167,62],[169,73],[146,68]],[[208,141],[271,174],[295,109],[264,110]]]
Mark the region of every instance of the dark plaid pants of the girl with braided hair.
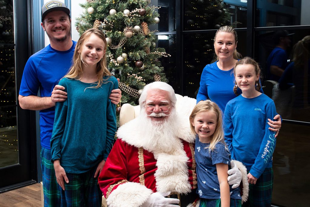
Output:
[[[248,172],[249,173],[249,172]],[[256,184],[249,184],[249,198],[242,207],[267,207],[271,206],[273,187],[273,170],[266,168],[257,179]]]

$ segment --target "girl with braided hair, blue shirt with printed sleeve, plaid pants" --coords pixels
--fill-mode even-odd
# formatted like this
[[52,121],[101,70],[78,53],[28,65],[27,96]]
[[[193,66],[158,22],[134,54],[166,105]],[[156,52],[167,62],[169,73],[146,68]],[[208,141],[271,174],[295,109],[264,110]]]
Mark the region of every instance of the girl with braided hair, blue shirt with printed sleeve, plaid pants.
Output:
[[237,62],[234,92],[240,88],[242,94],[229,101],[224,112],[224,137],[231,157],[248,170],[249,200],[243,206],[271,205],[276,133],[268,129],[268,117],[277,112],[272,99],[259,92],[259,74],[252,58]]

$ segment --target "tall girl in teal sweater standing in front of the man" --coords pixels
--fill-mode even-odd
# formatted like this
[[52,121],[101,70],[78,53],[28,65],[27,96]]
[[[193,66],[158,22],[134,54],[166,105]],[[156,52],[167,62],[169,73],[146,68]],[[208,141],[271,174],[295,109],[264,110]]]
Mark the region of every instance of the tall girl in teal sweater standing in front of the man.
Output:
[[79,38],[73,66],[59,84],[68,98],[57,102],[51,160],[61,187],[60,205],[101,206],[98,176],[116,131],[115,105],[108,98],[118,88],[107,69],[106,40],[99,29]]

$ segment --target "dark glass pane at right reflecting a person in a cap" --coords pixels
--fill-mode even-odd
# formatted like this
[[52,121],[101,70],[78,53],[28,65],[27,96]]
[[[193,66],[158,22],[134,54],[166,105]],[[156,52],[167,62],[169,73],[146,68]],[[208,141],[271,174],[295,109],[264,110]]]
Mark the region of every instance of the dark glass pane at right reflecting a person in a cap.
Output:
[[264,92],[283,119],[310,122],[310,30],[255,34]]

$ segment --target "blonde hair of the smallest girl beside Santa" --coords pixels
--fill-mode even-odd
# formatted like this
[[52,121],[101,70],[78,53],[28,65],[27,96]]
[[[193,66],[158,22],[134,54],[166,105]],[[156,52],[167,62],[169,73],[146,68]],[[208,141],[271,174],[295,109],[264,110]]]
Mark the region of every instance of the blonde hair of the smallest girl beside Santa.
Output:
[[206,111],[214,112],[217,118],[215,132],[210,137],[211,138],[210,146],[207,147],[209,151],[213,151],[215,149],[215,145],[218,142],[222,142],[226,146],[224,142],[222,111],[220,110],[219,106],[215,102],[212,102],[210,100],[199,101],[198,104],[194,107],[191,115],[189,116],[189,122],[190,122],[192,132],[194,134],[197,134],[195,131],[195,127],[193,126],[192,123],[194,122],[195,116],[198,113],[206,112]]

